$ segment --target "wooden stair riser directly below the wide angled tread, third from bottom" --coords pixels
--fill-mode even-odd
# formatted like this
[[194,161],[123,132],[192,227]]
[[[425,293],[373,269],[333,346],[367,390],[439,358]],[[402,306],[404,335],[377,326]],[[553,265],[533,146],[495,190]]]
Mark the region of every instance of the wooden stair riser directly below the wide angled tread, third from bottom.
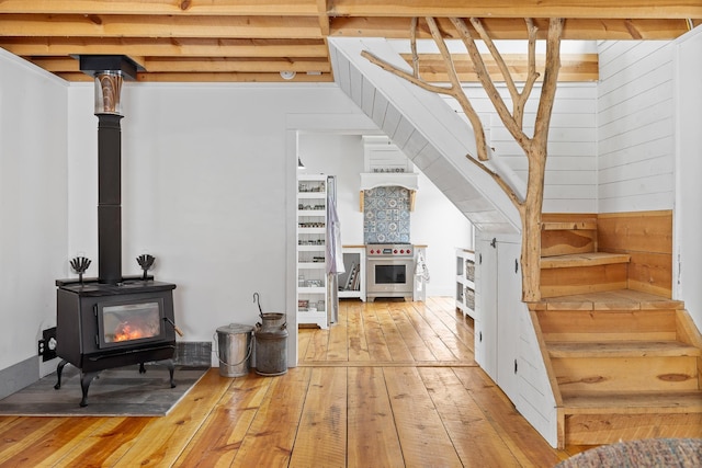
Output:
[[675,310],[541,310],[546,342],[676,340]]

